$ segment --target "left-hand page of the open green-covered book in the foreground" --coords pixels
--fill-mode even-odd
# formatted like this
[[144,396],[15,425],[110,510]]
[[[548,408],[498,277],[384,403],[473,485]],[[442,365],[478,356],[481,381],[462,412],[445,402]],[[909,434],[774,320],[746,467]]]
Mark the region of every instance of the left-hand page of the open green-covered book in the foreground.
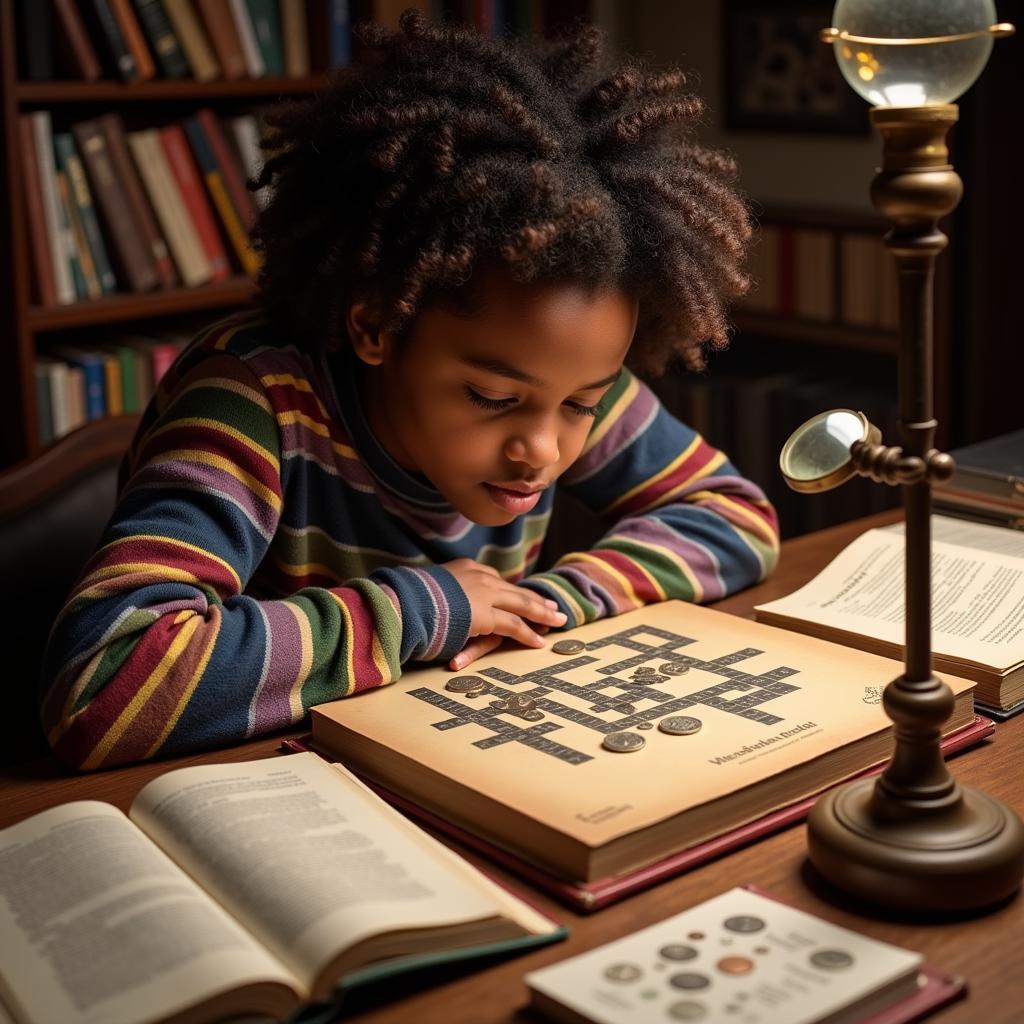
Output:
[[[295,979],[109,804],[0,833],[0,999],[23,1022],[162,1020],[237,986]],[[276,1008],[295,998],[282,990]]]

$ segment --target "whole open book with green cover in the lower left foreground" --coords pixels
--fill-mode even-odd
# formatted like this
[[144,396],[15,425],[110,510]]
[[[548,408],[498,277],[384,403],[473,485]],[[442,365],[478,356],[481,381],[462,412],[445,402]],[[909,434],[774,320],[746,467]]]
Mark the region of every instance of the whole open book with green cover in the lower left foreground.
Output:
[[0,833],[17,1024],[280,1020],[375,975],[564,934],[313,754],[181,768],[127,816],[80,801]]

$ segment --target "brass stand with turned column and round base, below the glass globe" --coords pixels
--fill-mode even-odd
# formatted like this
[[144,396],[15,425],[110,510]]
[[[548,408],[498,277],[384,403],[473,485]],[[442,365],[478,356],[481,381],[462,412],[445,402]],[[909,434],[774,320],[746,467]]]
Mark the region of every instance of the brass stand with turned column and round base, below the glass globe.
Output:
[[876,780],[825,795],[808,819],[811,863],[870,903],[922,911],[976,909],[1011,895],[1024,876],[1024,825],[1004,804],[957,784],[942,760],[949,687],[932,674],[931,481],[952,460],[932,447],[932,284],[945,248],[938,228],[961,198],[945,136],[954,104],[874,108],[884,142],[871,202],[893,224],[899,272],[899,406],[903,446],[858,442],[858,472],[903,487],[906,658],[883,703],[895,723],[892,761]]

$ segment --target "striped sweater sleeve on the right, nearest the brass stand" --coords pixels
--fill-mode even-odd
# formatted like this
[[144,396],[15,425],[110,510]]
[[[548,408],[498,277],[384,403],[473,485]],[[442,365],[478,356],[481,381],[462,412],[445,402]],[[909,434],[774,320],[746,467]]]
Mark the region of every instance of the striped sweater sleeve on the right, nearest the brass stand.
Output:
[[778,524],[761,489],[631,374],[602,406],[560,486],[609,530],[524,585],[555,598],[571,627],[670,598],[714,601],[764,579]]

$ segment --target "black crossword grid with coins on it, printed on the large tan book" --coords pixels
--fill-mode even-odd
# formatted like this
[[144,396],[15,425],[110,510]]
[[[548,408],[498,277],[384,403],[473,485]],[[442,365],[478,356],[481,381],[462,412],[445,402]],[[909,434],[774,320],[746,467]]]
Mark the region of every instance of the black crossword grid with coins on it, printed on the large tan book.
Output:
[[[418,686],[408,695],[443,713],[431,723],[439,731],[482,729],[486,734],[472,739],[477,750],[521,743],[570,765],[642,750],[643,732],[655,726],[671,736],[692,735],[703,724],[705,708],[759,725],[784,721],[766,706],[799,688],[786,681],[796,669],[744,672],[742,663],[764,651],[743,647],[707,659],[685,653],[694,642],[670,630],[635,626],[586,644],[556,641],[551,660],[524,675],[490,667],[450,679],[446,692]],[[578,681],[588,673],[589,681]],[[563,740],[559,733],[568,724],[592,730],[593,743]]]

